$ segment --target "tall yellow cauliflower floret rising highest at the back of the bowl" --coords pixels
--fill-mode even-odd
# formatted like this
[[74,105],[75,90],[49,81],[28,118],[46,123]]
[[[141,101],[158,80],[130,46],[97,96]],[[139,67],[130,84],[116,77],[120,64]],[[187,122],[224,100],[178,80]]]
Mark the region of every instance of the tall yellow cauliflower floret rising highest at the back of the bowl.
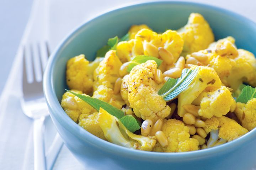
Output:
[[209,23],[199,13],[191,13],[188,23],[177,32],[184,40],[182,55],[206,49],[214,41]]

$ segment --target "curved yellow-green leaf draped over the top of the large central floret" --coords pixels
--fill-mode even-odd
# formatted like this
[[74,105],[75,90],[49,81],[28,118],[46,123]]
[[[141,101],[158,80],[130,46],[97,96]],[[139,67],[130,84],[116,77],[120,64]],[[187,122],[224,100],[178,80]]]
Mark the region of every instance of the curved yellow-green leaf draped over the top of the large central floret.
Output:
[[145,63],[148,60],[154,60],[156,62],[156,64],[158,64],[158,67],[160,66],[160,64],[162,63],[162,60],[156,58],[156,57],[152,57],[152,56],[136,56],[133,58],[132,61],[130,61],[127,71],[130,73],[130,71],[133,69],[134,66],[137,66],[138,64],[141,63]]

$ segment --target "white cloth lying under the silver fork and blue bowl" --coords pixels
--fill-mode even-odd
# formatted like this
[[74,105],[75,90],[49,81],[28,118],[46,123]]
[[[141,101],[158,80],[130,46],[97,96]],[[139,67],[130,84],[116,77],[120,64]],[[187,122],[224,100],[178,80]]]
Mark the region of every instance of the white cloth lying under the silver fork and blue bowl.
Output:
[[[49,41],[50,49],[75,27],[100,13],[148,0],[35,0],[39,7],[33,7],[30,24],[25,31],[21,44],[33,41],[42,36]],[[192,0],[188,0],[192,1]],[[253,21],[256,21],[256,1],[254,0],[195,0],[215,6],[220,6]],[[42,26],[44,23],[44,26]],[[39,30],[42,34],[38,35]],[[19,49],[21,50],[21,48]],[[18,51],[19,53],[19,51]],[[0,169],[30,170],[33,169],[33,136],[32,120],[26,117],[20,107],[21,97],[21,55],[17,55],[9,79],[0,98]],[[55,135],[50,118],[46,121],[46,149]],[[64,146],[53,169],[86,169]]]

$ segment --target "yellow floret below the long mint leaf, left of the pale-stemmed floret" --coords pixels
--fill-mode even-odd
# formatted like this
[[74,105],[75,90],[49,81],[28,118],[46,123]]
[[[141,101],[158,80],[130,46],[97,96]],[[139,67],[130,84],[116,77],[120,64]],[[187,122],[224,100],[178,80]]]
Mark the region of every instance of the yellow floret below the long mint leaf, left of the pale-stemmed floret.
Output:
[[92,135],[95,135],[103,140],[106,140],[104,133],[97,123],[98,112],[94,112],[93,114],[88,115],[87,117],[82,118],[78,125],[90,132]]

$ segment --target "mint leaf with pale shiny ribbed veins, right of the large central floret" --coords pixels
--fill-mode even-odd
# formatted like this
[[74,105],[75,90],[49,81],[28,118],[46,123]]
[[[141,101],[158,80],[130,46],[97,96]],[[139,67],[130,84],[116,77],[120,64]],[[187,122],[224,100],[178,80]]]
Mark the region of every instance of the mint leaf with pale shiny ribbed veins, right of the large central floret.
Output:
[[170,101],[178,96],[183,90],[185,90],[188,85],[196,77],[198,67],[194,70],[183,69],[180,78],[168,79],[164,86],[158,91],[158,94],[164,98],[165,101]]

